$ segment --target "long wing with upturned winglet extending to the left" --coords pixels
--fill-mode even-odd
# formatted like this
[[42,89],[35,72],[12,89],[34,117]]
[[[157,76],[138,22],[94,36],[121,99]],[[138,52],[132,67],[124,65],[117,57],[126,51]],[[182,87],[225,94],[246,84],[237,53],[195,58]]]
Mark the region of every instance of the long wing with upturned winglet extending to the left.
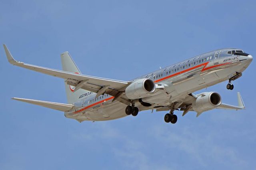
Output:
[[[113,79],[105,79],[100,77],[93,77],[89,75],[80,75],[76,73],[70,73],[66,71],[60,71],[56,69],[50,69],[46,67],[40,67],[36,65],[30,65],[26,64],[20,61],[16,61],[13,57],[6,45],[4,44],[4,50],[6,52],[7,59],[9,63],[23,67],[26,69],[30,69],[33,71],[37,71],[40,73],[52,75],[55,77],[60,77],[62,79],[66,79],[65,82],[68,85],[75,86],[75,91],[78,89],[85,89],[88,91],[92,91],[94,93],[97,93],[98,97],[99,95],[102,95],[104,93],[114,96],[114,100],[120,101],[122,103],[125,103],[126,105],[130,105],[128,99],[124,97],[124,91],[126,87],[130,84],[128,81],[119,81],[119,80],[113,80]],[[113,101],[114,101],[113,100]]]

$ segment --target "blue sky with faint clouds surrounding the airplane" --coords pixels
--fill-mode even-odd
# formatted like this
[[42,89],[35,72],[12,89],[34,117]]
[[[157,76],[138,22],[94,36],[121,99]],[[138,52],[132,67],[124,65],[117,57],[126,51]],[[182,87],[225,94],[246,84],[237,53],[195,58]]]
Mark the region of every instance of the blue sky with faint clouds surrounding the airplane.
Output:
[[[61,69],[69,51],[87,75],[130,80],[200,53],[238,47],[256,55],[254,1],[15,1],[0,3],[0,43],[18,61]],[[62,79],[14,67],[0,48],[0,169],[255,169],[255,61],[216,91],[246,110],[196,118],[143,111],[137,117],[78,123],[12,97],[66,103]]]

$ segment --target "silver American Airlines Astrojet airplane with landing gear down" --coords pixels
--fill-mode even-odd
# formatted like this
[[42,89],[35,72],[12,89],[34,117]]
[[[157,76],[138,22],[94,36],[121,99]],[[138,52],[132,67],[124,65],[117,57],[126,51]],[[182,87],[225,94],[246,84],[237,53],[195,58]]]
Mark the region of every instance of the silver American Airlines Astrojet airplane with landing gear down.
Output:
[[228,80],[226,88],[234,89],[232,81],[240,78],[252,62],[252,55],[238,48],[223,48],[203,53],[130,81],[83,75],[68,52],[60,55],[62,71],[16,61],[6,45],[8,61],[16,66],[64,79],[68,104],[12,98],[63,111],[65,117],[82,121],[108,121],[136,116],[139,111],[168,111],[166,123],[175,124],[174,111],[195,111],[196,117],[212,109],[245,109],[240,93],[238,106],[222,103],[217,92],[195,94]]

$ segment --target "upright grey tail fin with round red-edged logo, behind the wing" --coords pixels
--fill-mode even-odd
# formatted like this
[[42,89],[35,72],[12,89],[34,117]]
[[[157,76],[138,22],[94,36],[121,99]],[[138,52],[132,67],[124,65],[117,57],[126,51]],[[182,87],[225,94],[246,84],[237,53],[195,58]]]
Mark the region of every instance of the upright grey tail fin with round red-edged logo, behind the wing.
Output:
[[[61,57],[63,71],[81,74],[81,71],[78,69],[78,67],[76,66],[76,63],[74,62],[74,60],[71,58],[70,54],[67,51],[62,53],[60,57]],[[79,97],[81,95],[88,92],[90,93],[90,91],[87,91],[84,89],[78,89],[77,91],[74,92],[74,88],[75,88],[74,86],[71,86],[65,83],[68,104],[75,103],[76,101],[79,100]]]

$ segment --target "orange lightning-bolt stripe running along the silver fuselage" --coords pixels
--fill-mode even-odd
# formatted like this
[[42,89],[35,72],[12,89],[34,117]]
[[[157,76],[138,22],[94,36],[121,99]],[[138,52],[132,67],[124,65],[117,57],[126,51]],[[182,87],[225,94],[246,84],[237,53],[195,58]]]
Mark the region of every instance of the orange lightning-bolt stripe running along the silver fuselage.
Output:
[[[190,71],[190,70],[193,70],[193,69],[196,69],[196,68],[199,68],[199,67],[202,67],[202,66],[204,66],[204,67],[202,68],[201,72],[206,71],[206,70],[208,70],[208,69],[212,69],[212,68],[214,68],[214,67],[218,67],[218,66],[222,66],[222,65],[226,65],[226,64],[231,63],[231,62],[229,62],[229,63],[223,63],[223,64],[212,65],[212,66],[210,66],[210,67],[206,67],[206,65],[208,65],[209,62],[210,62],[210,61],[208,61],[208,62],[206,62],[206,63],[202,63],[202,64],[200,64],[200,65],[196,65],[196,66],[191,67],[191,68],[188,68],[188,69],[186,69],[186,70],[182,70],[182,71],[180,71],[180,72],[178,72],[178,73],[174,73],[174,74],[172,74],[172,75],[168,75],[168,76],[163,77],[162,79],[158,79],[158,80],[156,80],[156,81],[154,81],[154,82],[157,83],[157,82],[159,82],[159,81],[163,81],[163,80],[169,79],[169,78],[174,77],[174,76],[176,76],[176,75],[179,75],[179,74],[182,74],[182,73],[186,73],[186,72],[188,72],[188,71]],[[111,100],[111,99],[114,99],[114,96],[109,97],[109,98],[107,98],[107,99],[104,99],[104,100],[102,100],[102,101],[98,101],[98,102],[96,102],[96,103],[93,103],[92,105],[88,105],[88,106],[84,107],[83,109],[80,109],[80,110],[76,111],[75,113],[79,113],[79,112],[84,111],[84,110],[86,110],[86,109],[88,109],[88,108],[90,108],[90,107],[93,107],[93,106],[95,106],[95,105],[98,105],[98,104],[100,104],[100,103],[103,103],[104,101],[109,101],[109,100]]]

